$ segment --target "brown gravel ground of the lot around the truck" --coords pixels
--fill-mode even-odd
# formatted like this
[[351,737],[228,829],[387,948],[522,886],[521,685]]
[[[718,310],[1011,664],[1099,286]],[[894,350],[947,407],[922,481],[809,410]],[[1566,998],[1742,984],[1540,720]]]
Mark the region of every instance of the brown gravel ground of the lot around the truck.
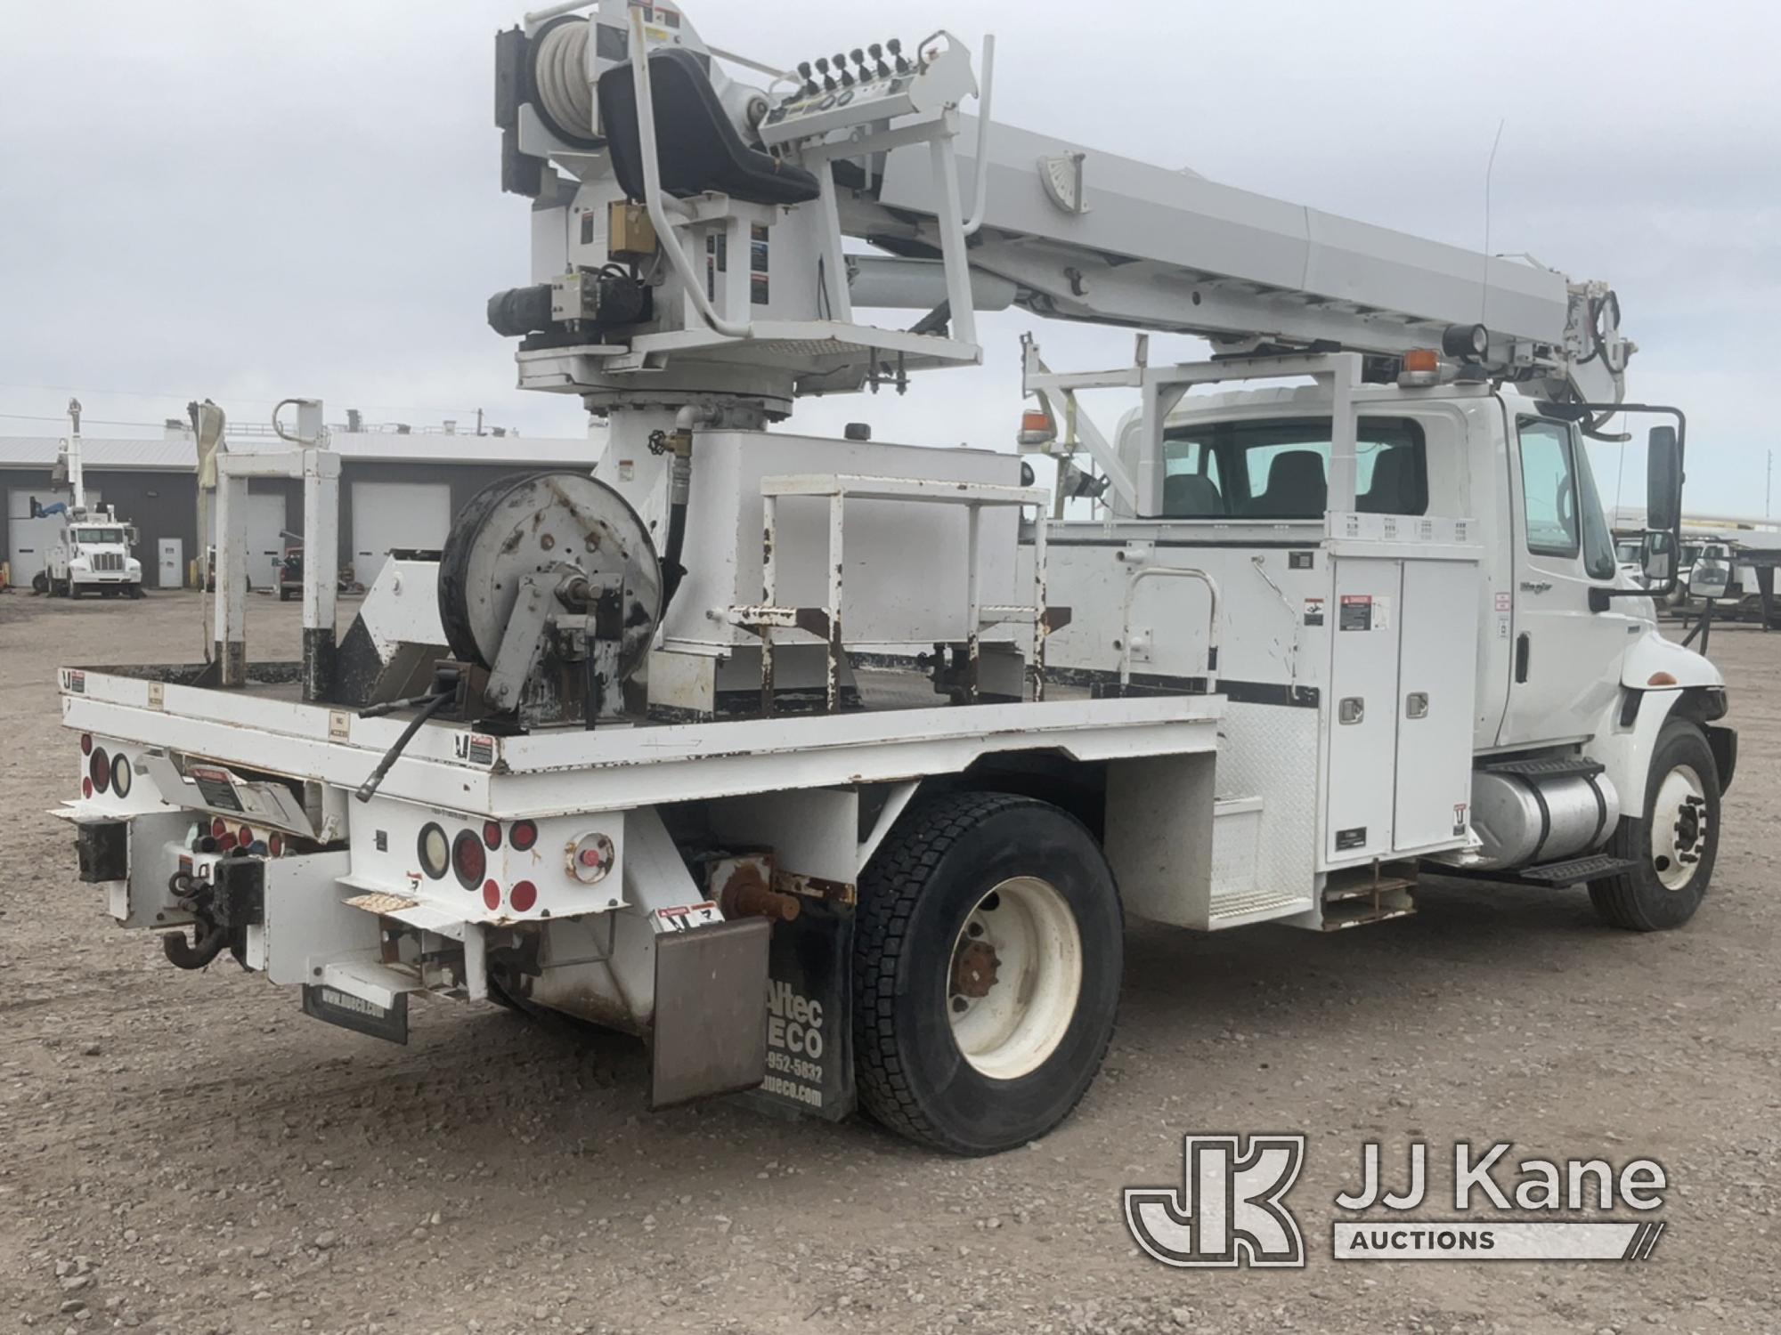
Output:
[[[297,607],[253,602],[290,657]],[[75,881],[61,662],[178,660],[192,596],[0,596],[0,1323],[94,1331],[1772,1331],[1781,1169],[1781,637],[1717,630],[1742,730],[1687,929],[1582,892],[1434,883],[1320,938],[1134,927],[1118,1036],[1058,1132],[994,1161],[864,1121],[652,1116],[639,1045],[420,1004],[410,1047],[224,961],[166,965]],[[1304,1271],[1170,1271],[1120,1189],[1190,1130],[1304,1130]],[[1665,1164],[1642,1266],[1338,1264],[1364,1139]],[[1434,1191],[1446,1193],[1446,1171]],[[1432,1198],[1432,1205],[1452,1205]],[[1439,1216],[1450,1210],[1432,1209]],[[11,1315],[7,1315],[11,1314]]]

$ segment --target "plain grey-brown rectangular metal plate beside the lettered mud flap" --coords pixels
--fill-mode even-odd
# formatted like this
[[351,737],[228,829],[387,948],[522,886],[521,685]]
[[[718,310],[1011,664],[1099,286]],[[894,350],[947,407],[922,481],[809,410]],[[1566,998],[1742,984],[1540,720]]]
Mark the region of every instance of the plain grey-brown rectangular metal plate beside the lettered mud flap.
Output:
[[753,1089],[768,1073],[766,918],[655,938],[650,1107]]

